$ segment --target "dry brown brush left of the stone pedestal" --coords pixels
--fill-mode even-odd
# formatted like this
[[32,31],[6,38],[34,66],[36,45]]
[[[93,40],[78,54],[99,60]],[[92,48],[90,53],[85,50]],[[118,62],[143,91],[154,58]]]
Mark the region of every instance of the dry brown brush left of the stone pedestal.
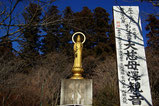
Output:
[[[8,63],[6,65],[9,68],[4,66],[3,70],[7,72],[4,73],[3,70],[1,72],[3,72],[4,77],[8,77],[1,79],[1,105],[55,106],[58,104],[60,81],[70,76],[72,64],[66,56],[54,53],[38,61],[37,65],[30,68],[30,73],[27,74],[14,69],[15,67],[21,67],[23,63],[19,66],[10,66]],[[14,73],[11,70],[14,70]]]

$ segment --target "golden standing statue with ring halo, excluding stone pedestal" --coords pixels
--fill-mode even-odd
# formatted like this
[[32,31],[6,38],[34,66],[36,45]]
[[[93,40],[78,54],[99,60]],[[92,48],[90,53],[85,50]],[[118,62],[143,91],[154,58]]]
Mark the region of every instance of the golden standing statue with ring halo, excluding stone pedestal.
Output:
[[[83,42],[81,42],[81,38],[80,35],[77,36],[77,41],[74,41],[74,36],[76,34],[81,34],[84,37]],[[73,34],[72,36],[72,41],[74,43],[74,65],[72,68],[72,72],[73,72],[73,76],[71,77],[71,79],[84,79],[82,77],[83,73],[83,68],[82,68],[82,48],[83,48],[83,43],[85,42],[86,37],[82,32],[76,32]]]

